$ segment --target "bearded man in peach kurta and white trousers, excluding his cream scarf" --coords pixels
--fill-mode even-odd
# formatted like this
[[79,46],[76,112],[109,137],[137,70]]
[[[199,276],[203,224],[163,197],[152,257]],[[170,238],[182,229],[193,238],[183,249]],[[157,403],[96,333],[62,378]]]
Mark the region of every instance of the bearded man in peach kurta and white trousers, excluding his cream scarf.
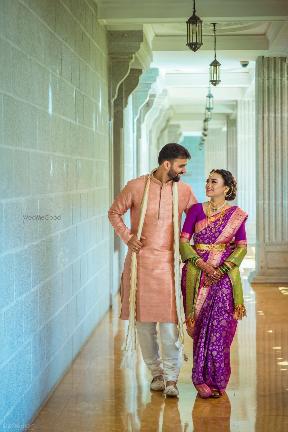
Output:
[[[117,234],[128,245],[120,293],[122,309],[120,318],[129,318],[129,293],[131,276],[131,255],[137,254],[136,328],[142,356],[153,376],[152,390],[164,390],[165,394],[178,395],[176,386],[179,366],[178,317],[175,300],[173,271],[173,217],[172,184],[178,186],[179,223],[183,211],[197,203],[191,187],[180,181],[185,174],[190,153],[183,146],[169,143],[158,157],[159,166],[150,177],[149,197],[140,239],[137,238],[141,203],[148,175],[128,181],[114,200],[108,217]],[[130,209],[131,230],[122,219]],[[178,234],[179,239],[179,234]],[[162,343],[161,359],[157,323],[160,323]]]

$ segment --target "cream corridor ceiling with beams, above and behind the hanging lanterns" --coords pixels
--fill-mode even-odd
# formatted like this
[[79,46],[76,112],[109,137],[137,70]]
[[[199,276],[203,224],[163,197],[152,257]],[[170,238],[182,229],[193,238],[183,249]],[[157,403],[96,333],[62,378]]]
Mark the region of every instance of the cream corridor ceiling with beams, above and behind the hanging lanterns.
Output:
[[[150,67],[163,73],[174,107],[172,123],[185,134],[202,129],[209,84],[209,64],[216,55],[221,83],[212,87],[213,118],[209,127],[224,126],[235,116],[237,100],[255,96],[258,56],[288,56],[288,0],[196,0],[203,20],[203,46],[196,53],[186,46],[186,21],[191,0],[99,0],[98,16],[107,30],[144,29],[153,51]],[[249,60],[243,69],[241,60]]]

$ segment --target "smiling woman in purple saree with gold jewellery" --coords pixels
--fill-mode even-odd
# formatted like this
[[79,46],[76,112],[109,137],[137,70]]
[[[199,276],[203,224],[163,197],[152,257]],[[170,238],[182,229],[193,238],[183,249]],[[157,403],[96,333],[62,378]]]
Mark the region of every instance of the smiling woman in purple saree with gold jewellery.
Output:
[[[246,316],[238,267],[247,254],[248,215],[225,202],[235,199],[236,190],[231,172],[210,172],[206,184],[210,201],[191,207],[180,236],[184,322],[194,340],[192,381],[203,398],[224,393],[237,320]],[[231,253],[227,246],[233,237],[237,248]]]

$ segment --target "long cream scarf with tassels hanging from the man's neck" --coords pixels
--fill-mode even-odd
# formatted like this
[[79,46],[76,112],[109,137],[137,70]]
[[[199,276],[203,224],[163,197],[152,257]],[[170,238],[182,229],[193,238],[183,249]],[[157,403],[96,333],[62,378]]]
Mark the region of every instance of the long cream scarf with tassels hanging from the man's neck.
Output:
[[[145,214],[148,203],[148,193],[150,178],[153,172],[157,168],[150,172],[147,183],[144,189],[144,194],[141,203],[140,221],[138,226],[137,238],[140,240],[142,228],[144,224]],[[177,366],[180,368],[183,365],[182,354],[184,348],[184,330],[183,322],[181,317],[181,288],[180,288],[180,252],[179,252],[179,200],[178,200],[178,184],[173,181],[172,185],[172,207],[173,207],[173,229],[174,229],[174,277],[175,277],[175,301],[176,311],[179,326],[179,337],[175,345],[179,350]],[[123,360],[120,369],[125,367],[132,369],[134,366],[134,353],[136,351],[136,291],[137,291],[137,253],[132,252],[131,256],[131,274],[130,274],[130,295],[129,295],[129,318],[128,318],[128,330],[125,341],[121,349],[124,350]],[[185,361],[188,358],[184,354]]]

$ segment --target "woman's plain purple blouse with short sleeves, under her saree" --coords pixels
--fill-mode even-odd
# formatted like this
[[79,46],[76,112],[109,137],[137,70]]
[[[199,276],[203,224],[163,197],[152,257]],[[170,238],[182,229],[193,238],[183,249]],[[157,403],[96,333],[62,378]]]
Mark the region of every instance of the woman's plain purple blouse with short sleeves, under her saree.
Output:
[[[229,212],[229,210],[232,210],[232,208],[235,208],[236,206],[231,207],[230,209],[225,210],[225,213]],[[194,234],[194,229],[195,229],[195,224],[198,220],[203,220],[206,219],[206,214],[203,212],[203,206],[202,203],[196,203],[193,204],[193,206],[191,206],[183,228],[182,228],[182,232],[183,233],[187,233],[189,234],[189,240],[192,238],[192,235]],[[236,246],[238,245],[238,243],[244,243],[247,245],[246,242],[246,230],[245,230],[245,222],[246,220],[244,220],[241,225],[238,228],[238,231],[235,233],[235,244]],[[182,236],[182,233],[180,235],[180,237]],[[183,235],[183,237],[187,238],[187,235]]]

